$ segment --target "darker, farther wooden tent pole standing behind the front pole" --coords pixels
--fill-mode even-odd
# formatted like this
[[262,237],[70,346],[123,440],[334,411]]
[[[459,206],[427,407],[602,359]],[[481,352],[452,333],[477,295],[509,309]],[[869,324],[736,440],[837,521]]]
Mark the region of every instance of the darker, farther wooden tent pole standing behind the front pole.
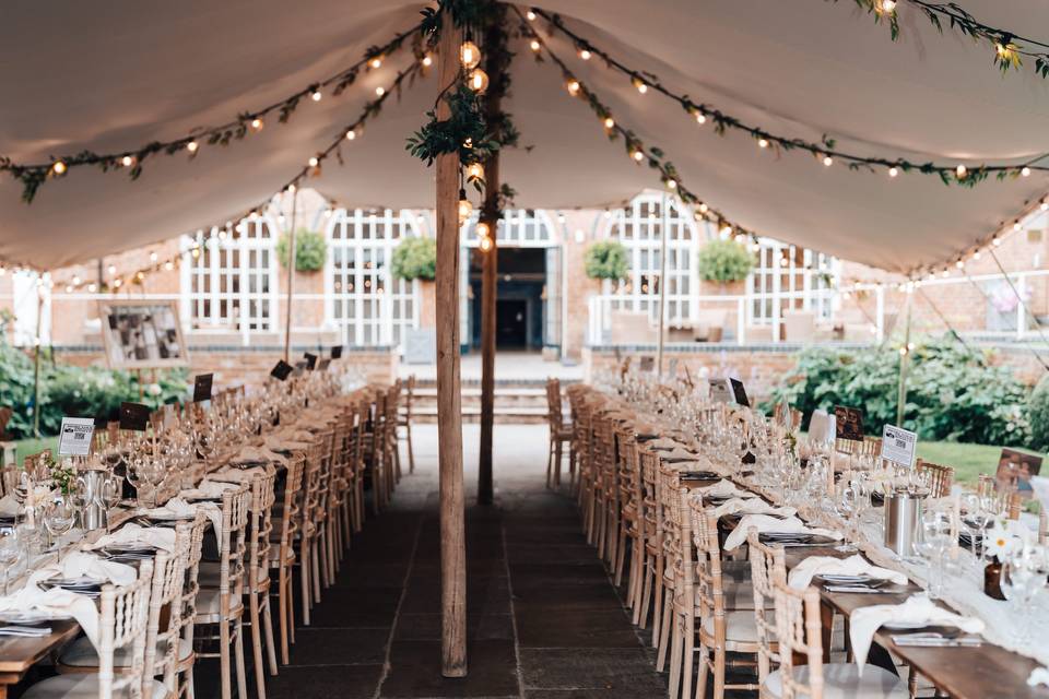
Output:
[[[506,5],[498,5],[487,28],[484,46],[484,71],[488,74],[488,92],[485,95],[487,122],[498,123],[503,111],[505,71],[509,64],[508,54],[495,47],[504,44],[500,34],[505,31],[503,20]],[[492,463],[492,436],[495,429],[495,303],[498,294],[499,249],[497,233],[503,215],[499,189],[499,151],[484,163],[484,203],[481,206],[481,223],[488,227],[492,247],[481,250],[481,447],[478,450],[478,505],[491,505],[494,497]]]

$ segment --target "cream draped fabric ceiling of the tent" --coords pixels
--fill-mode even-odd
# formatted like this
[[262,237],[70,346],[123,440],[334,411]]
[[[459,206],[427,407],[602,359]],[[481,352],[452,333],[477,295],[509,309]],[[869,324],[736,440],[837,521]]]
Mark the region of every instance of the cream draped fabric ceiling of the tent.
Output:
[[[1049,26],[1041,0],[965,0],[981,21]],[[0,154],[42,162],[82,149],[120,151],[228,120],[337,72],[366,47],[419,21],[402,0],[21,1],[0,8]],[[1002,76],[989,48],[900,3],[901,36],[847,0],[546,0],[580,34],[697,102],[756,126],[841,151],[935,159],[1022,163],[1045,151],[1049,81],[1032,67]],[[542,26],[540,23],[538,26]],[[56,32],[56,27],[61,31]],[[1036,37],[1049,39],[1049,36]],[[559,36],[551,47],[612,107],[616,120],[659,145],[682,180],[732,220],[764,235],[887,270],[943,262],[986,238],[1049,188],[1034,174],[975,189],[938,178],[826,168],[803,153],[777,157],[742,134],[718,137],[659,95],[639,95],[598,60],[582,62]],[[658,186],[621,143],[605,140],[557,69],[516,44],[509,111],[522,144],[504,177],[517,204],[601,206]],[[0,180],[0,259],[52,269],[221,223],[272,194],[352,121],[377,85],[411,60],[403,51],[342,96],[304,104],[198,157],[151,158],[138,181],[79,168],[48,182],[33,204]],[[433,78],[389,100],[361,139],[311,180],[346,205],[431,208],[433,170],[404,140],[424,121]],[[971,162],[971,161],[970,161]]]

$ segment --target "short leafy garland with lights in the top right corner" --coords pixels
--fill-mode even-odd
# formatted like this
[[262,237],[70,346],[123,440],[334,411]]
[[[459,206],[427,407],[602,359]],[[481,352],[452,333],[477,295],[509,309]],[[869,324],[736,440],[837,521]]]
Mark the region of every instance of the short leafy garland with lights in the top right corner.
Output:
[[[837,3],[838,0],[832,0]],[[928,0],[852,0],[856,4],[874,15],[874,22],[888,24],[889,36],[895,42],[899,38],[899,20],[896,14],[899,2],[906,2],[923,14],[929,22],[943,34],[943,23],[947,22],[951,29],[960,32],[975,42],[985,42],[993,49],[994,64],[1007,73],[1010,70],[1019,70],[1023,58],[1035,59],[1035,73],[1041,78],[1049,78],[1049,44],[1036,39],[1018,36],[1014,32],[1006,32],[983,24],[971,13],[956,2],[929,2]]]

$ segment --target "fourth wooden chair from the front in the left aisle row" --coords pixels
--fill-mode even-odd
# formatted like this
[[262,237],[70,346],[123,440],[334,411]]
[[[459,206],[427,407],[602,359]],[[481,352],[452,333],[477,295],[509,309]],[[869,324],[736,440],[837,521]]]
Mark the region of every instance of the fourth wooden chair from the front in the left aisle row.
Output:
[[[193,631],[198,644],[198,657],[219,657],[222,699],[233,696],[233,661],[237,664],[237,694],[247,696],[247,679],[244,668],[244,591],[247,549],[248,518],[251,510],[251,491],[246,484],[222,495],[222,532],[219,537],[219,587],[201,584],[197,594],[198,626],[217,626],[217,636],[204,636]],[[204,652],[201,641],[217,640],[219,652]],[[236,657],[231,656],[231,648]]]

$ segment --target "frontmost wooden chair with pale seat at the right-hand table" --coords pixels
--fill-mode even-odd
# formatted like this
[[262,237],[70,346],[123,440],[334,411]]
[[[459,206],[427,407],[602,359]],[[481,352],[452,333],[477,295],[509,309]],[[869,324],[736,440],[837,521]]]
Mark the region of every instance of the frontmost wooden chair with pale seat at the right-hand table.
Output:
[[[768,674],[762,697],[794,699],[905,699],[907,688],[887,670],[865,665],[859,675],[856,663],[823,662],[823,625],[820,591],[794,590],[786,580],[774,580],[776,595],[776,638],[779,642],[779,670]],[[803,660],[800,664],[795,659]]]

